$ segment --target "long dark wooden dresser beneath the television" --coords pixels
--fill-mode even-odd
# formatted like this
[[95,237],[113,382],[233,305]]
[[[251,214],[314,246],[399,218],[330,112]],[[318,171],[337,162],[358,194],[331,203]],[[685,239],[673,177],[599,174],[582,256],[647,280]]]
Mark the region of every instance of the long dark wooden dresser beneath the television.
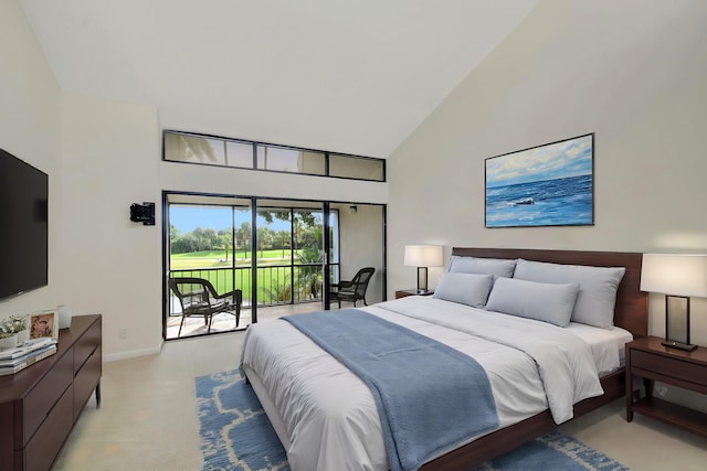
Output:
[[76,315],[56,354],[0,377],[0,470],[49,470],[95,390],[101,404],[102,318]]

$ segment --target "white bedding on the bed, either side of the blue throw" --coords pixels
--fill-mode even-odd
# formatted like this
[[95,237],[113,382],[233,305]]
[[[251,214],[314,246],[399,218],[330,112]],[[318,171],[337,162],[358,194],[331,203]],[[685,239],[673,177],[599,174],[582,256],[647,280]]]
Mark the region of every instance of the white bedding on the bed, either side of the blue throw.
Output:
[[[600,329],[582,324],[561,329],[430,297],[408,297],[363,310],[474,356],[488,374],[500,427],[548,407],[558,422],[571,418],[571,404],[602,394],[597,371],[620,366],[618,338],[625,333],[604,331],[608,334],[603,335],[597,332]],[[530,344],[531,338],[542,340]],[[510,343],[519,345],[508,346]],[[540,356],[558,356],[553,361],[563,366],[539,367],[518,346],[537,350]],[[559,358],[563,351],[571,351],[569,360]],[[582,361],[585,364],[578,367]],[[251,325],[242,366],[287,449],[294,471],[388,469],[370,390],[292,324],[273,321]],[[566,376],[558,374],[562,370]],[[587,374],[578,377],[580,370]],[[564,383],[576,387],[564,390]]]

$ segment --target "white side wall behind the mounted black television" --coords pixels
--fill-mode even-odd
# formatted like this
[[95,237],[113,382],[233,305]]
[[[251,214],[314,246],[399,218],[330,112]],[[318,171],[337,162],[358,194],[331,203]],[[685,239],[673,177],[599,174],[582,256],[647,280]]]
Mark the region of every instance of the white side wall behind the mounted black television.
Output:
[[62,228],[62,181],[56,172],[61,167],[61,90],[17,1],[0,2],[0,148],[50,175],[50,285],[0,301],[0,318],[6,318],[56,304],[56,235]]

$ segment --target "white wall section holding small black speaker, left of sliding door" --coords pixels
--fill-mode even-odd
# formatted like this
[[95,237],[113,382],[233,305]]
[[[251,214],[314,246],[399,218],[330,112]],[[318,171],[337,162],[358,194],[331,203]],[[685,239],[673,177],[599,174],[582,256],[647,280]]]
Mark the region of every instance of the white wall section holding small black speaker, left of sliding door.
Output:
[[[129,221],[133,203],[157,203],[155,107],[65,93],[62,109],[62,302],[102,313],[108,358],[156,353],[161,343],[161,225]],[[120,329],[127,338],[120,339]]]

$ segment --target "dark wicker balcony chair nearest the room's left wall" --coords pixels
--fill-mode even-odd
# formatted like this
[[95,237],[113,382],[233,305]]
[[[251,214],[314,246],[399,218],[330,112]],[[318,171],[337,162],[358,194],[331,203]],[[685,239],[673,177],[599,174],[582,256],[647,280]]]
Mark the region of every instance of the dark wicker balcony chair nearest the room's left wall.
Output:
[[235,327],[239,327],[243,303],[243,291],[240,289],[219,295],[213,285],[203,278],[170,278],[168,283],[181,304],[181,322],[177,336],[181,335],[184,319],[192,317],[203,317],[203,323],[208,325],[207,333],[211,332],[213,315],[221,312],[234,315]]

